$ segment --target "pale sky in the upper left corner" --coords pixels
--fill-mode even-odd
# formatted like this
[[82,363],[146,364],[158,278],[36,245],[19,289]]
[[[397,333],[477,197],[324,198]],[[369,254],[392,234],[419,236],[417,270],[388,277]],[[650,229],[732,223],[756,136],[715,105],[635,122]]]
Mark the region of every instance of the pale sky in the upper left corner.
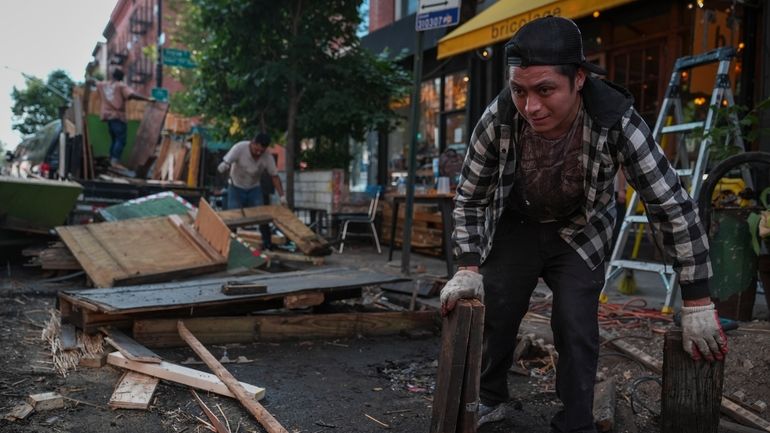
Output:
[[55,69],[83,81],[91,52],[117,0],[21,0],[0,5],[0,141],[13,149],[11,91],[26,88],[21,72],[42,80]]

